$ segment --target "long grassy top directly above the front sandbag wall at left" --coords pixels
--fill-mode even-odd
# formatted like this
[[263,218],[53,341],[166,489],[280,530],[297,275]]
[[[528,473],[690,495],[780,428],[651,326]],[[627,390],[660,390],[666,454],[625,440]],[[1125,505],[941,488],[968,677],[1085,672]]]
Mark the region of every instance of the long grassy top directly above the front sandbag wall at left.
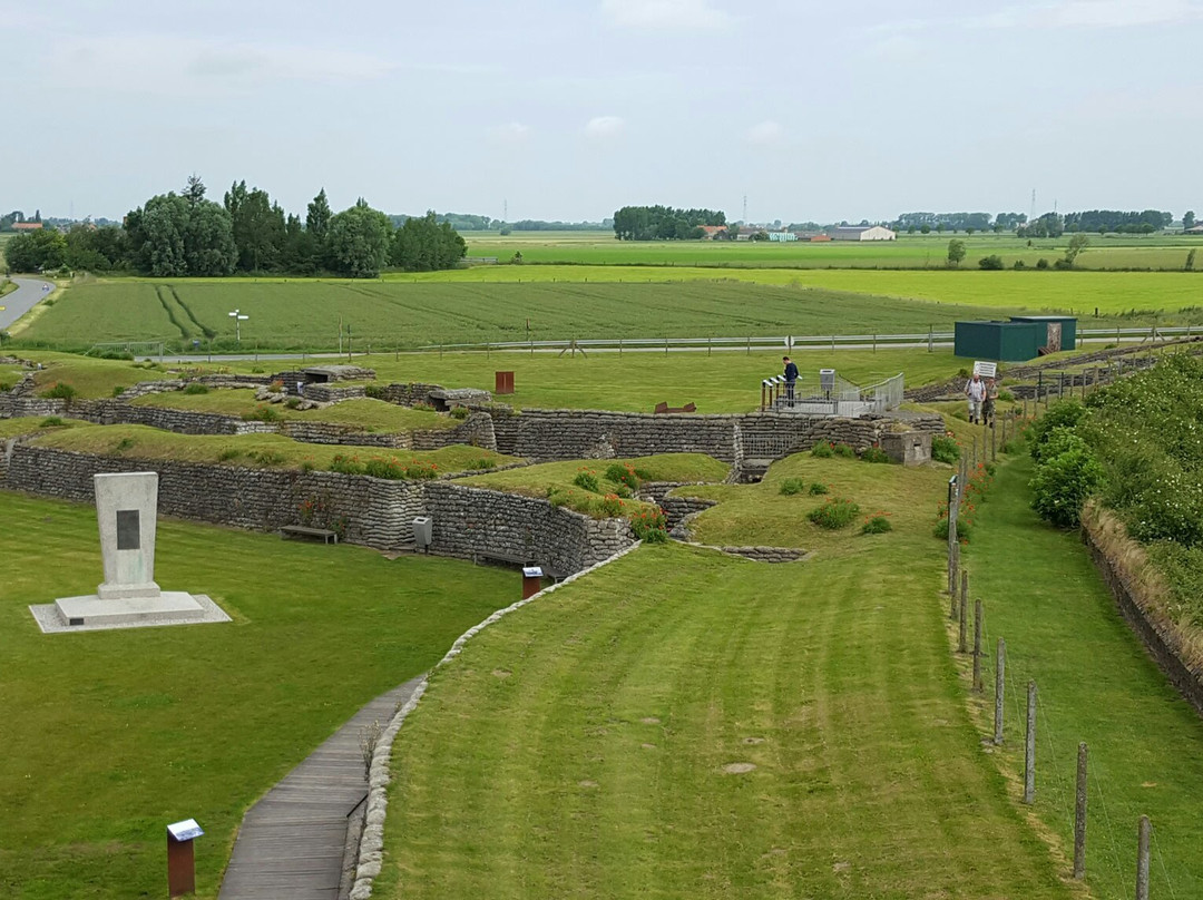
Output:
[[34,446],[131,460],[221,463],[250,468],[330,469],[334,457],[356,461],[396,458],[403,463],[434,464],[438,472],[480,468],[484,460],[497,466],[517,462],[492,450],[457,444],[439,450],[389,450],[379,446],[302,444],[280,434],[176,434],[144,425],[90,425],[41,436]]

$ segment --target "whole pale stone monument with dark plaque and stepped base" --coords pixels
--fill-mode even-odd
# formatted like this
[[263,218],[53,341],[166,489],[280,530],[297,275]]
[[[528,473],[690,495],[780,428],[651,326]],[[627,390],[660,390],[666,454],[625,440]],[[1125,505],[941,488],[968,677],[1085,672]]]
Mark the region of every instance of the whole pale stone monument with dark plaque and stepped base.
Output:
[[203,594],[161,591],[154,580],[159,474],[93,475],[105,581],[96,593],[31,606],[43,632],[229,622]]

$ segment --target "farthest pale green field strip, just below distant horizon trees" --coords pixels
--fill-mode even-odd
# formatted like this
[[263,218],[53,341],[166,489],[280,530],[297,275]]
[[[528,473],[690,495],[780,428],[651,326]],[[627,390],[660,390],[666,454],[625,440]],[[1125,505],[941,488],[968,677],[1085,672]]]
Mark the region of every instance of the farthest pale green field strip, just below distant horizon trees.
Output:
[[[1186,254],[1203,245],[1197,237],[1174,235],[1091,235],[1079,256],[1084,268],[1181,270]],[[900,235],[896,241],[753,242],[753,241],[617,241],[612,231],[464,232],[469,256],[509,262],[521,253],[527,264],[591,266],[723,266],[761,268],[944,268],[948,242],[965,242],[965,268],[976,268],[983,256],[997,254],[1007,266],[1015,260],[1035,266],[1065,254],[1068,236],[1057,239],[1014,235]]]

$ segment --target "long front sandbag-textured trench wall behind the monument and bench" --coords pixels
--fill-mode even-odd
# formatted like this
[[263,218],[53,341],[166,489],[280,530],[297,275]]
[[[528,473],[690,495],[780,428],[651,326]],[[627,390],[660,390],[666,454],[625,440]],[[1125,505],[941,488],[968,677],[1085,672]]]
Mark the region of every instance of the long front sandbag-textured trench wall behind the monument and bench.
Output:
[[379,550],[411,547],[413,520],[421,515],[433,517],[435,553],[517,557],[559,574],[579,572],[634,543],[623,520],[594,520],[546,501],[451,481],[107,457],[17,442],[6,442],[5,456],[2,484],[12,490],[93,503],[97,473],[158,472],[164,515],[275,531],[306,523],[301,504],[309,502],[315,513],[308,523],[334,529],[342,525],[344,540]]

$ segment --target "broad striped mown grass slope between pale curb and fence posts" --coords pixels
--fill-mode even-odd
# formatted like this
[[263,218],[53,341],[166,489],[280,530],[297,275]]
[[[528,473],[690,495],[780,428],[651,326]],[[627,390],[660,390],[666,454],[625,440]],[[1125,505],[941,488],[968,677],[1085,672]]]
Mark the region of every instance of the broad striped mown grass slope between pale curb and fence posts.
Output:
[[398,735],[375,894],[1072,896],[980,752],[941,543],[847,540],[645,546],[474,638]]

